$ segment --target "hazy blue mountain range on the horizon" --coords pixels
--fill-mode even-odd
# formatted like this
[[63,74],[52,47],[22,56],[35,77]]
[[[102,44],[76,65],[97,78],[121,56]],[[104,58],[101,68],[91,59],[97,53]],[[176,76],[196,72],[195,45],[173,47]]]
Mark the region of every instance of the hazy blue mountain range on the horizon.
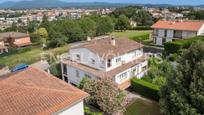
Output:
[[0,4],[0,8],[54,8],[54,7],[122,7],[131,5],[130,3],[105,3],[105,2],[63,2],[60,0],[32,0],[32,1],[20,1],[20,2],[4,2]]

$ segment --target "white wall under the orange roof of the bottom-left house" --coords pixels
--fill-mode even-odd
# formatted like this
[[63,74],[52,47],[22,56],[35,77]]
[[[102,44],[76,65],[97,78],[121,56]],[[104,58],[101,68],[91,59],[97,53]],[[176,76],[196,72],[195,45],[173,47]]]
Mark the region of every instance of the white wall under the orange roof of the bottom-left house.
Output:
[[84,115],[84,103],[83,101],[80,101],[79,103],[73,105],[72,107],[67,108],[54,115]]

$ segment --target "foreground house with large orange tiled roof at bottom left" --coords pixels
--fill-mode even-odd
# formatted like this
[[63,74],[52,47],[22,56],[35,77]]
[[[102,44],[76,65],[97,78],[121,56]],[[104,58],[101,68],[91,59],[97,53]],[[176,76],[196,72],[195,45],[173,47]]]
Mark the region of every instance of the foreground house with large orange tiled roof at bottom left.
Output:
[[84,115],[87,93],[37,68],[0,77],[2,115]]

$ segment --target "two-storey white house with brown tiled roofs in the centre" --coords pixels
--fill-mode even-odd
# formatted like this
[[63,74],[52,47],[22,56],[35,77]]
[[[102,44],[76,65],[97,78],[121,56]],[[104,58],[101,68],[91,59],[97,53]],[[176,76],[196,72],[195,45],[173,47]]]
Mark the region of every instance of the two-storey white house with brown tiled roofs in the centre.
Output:
[[61,61],[64,81],[78,85],[83,77],[109,78],[120,89],[130,86],[130,78],[147,72],[143,45],[133,40],[110,36],[94,39],[69,51]]

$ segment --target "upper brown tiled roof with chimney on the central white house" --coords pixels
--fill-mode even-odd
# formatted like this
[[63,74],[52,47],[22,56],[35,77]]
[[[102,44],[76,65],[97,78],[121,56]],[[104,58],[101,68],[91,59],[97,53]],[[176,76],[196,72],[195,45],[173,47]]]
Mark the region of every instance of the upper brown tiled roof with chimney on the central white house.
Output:
[[75,48],[86,48],[100,57],[107,59],[107,58],[114,58],[119,55],[128,53],[130,51],[142,48],[143,45],[135,42],[130,39],[125,38],[114,38],[115,45],[111,44],[112,37],[104,37],[97,40],[91,40],[87,44],[80,45]]

